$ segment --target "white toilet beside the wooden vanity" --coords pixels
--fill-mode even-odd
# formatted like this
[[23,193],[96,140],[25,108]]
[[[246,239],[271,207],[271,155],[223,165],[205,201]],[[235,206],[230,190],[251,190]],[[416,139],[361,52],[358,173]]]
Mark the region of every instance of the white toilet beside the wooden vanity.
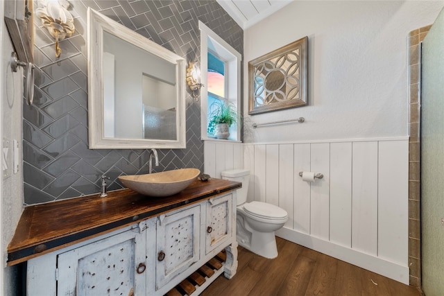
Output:
[[236,240],[239,245],[265,258],[278,256],[275,231],[288,220],[287,211],[266,202],[246,202],[250,171],[236,169],[223,171],[222,179],[242,183],[237,190]]

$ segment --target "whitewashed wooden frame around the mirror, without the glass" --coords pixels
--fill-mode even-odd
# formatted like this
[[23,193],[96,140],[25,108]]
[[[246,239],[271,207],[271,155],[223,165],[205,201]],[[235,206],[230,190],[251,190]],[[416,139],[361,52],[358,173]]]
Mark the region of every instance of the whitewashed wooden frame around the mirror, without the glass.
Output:
[[[89,149],[186,148],[185,59],[91,8],[88,8],[87,26]],[[163,60],[176,64],[176,81],[178,84],[176,140],[105,138],[103,123],[103,31],[157,55]]]

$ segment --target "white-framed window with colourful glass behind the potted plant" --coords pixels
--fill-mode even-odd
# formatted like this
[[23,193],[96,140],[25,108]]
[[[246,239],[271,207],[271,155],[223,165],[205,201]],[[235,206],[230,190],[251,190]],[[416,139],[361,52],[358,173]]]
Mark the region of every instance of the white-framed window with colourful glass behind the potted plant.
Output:
[[[214,139],[209,128],[214,105],[232,105],[240,117],[241,112],[241,54],[199,21],[200,73],[204,87],[200,89],[200,132],[204,140]],[[228,140],[241,140],[241,124],[230,127]]]

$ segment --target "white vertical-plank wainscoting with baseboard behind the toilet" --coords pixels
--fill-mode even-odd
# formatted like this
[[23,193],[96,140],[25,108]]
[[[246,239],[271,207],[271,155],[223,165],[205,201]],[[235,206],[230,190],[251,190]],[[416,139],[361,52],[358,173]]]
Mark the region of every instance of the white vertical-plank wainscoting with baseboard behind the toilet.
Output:
[[[276,204],[289,214],[278,236],[409,284],[408,137],[205,141],[204,155],[205,173],[214,177],[250,169],[248,201]],[[301,171],[324,177],[304,182]]]

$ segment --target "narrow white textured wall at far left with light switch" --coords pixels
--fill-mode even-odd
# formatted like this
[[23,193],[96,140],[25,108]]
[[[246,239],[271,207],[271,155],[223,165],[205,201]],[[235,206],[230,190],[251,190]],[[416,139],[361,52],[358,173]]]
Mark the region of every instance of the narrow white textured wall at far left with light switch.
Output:
[[[0,19],[3,20],[4,1],[0,2]],[[1,266],[0,295],[17,295],[17,266],[6,267],[8,243],[10,242],[23,209],[23,173],[22,173],[22,85],[23,71],[13,73],[10,67],[12,42],[4,21],[0,24],[0,139],[19,143],[19,172],[11,171],[9,177],[0,176],[0,216],[1,216]],[[12,148],[12,144],[10,145]],[[9,151],[8,164],[12,167],[12,153]],[[2,172],[3,174],[3,172]]]

